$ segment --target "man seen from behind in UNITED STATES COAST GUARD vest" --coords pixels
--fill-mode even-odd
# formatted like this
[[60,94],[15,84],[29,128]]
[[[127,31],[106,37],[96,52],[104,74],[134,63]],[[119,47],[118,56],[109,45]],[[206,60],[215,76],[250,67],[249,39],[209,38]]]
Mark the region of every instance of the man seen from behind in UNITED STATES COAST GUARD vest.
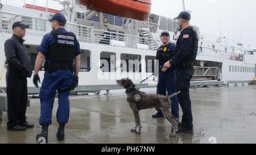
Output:
[[[69,93],[78,86],[78,74],[80,70],[81,49],[79,41],[72,32],[64,28],[67,20],[62,14],[55,14],[49,21],[52,24],[50,33],[44,35],[42,43],[38,48],[36,57],[33,82],[38,87],[39,69],[42,66],[44,57],[44,79],[40,90],[41,116],[39,124],[42,125],[42,132],[36,135],[36,139],[44,137],[48,141],[48,125],[52,123],[52,108],[56,95],[59,95],[59,107],[57,109],[57,122],[59,129],[57,139],[64,140],[64,127],[69,119]],[[75,68],[73,61],[75,59]],[[75,75],[73,72],[75,71]]]

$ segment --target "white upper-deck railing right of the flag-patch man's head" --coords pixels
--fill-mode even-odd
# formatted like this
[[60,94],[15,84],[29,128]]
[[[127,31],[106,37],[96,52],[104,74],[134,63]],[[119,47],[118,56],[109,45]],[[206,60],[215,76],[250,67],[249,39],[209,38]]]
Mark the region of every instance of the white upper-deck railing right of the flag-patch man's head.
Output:
[[220,36],[215,36],[211,35],[208,33],[200,32],[200,37],[203,40],[211,41],[213,43],[218,43],[222,45],[227,45],[230,47],[236,47],[237,45],[242,45],[241,41],[236,41],[232,39],[227,39],[226,37],[220,37]]

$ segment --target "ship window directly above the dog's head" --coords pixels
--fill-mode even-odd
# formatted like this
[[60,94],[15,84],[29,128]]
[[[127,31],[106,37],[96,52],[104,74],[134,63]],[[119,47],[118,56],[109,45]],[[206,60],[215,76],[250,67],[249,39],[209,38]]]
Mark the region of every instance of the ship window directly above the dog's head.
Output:
[[141,55],[121,54],[121,72],[141,72]]

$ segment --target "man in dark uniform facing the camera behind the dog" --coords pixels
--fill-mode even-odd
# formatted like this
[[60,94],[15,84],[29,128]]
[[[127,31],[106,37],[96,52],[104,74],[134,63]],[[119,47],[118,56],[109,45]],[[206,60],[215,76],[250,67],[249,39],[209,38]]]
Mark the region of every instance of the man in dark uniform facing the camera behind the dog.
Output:
[[[175,44],[170,43],[170,35],[168,31],[163,31],[161,33],[160,39],[163,43],[158,48],[158,51],[156,52],[156,60],[159,61],[159,72],[155,74],[155,78],[158,76],[158,85],[156,89],[156,94],[160,95],[166,95],[166,91],[168,92],[168,96],[171,94],[174,94],[175,89],[175,73],[174,69],[170,68],[163,68],[163,65],[166,61],[170,60],[172,56],[174,56],[175,52]],[[171,112],[172,115],[174,115],[174,118],[176,120],[179,119],[179,103],[177,100],[177,96],[172,97],[170,99],[172,101],[171,104]],[[162,118],[163,114],[160,109],[156,112],[156,114],[152,115],[153,118]]]

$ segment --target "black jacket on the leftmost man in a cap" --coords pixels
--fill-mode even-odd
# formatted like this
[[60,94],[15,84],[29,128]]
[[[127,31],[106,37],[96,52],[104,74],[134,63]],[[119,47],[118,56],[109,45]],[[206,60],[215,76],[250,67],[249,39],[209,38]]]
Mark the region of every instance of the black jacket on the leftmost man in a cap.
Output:
[[5,41],[5,57],[7,61],[7,77],[31,77],[30,57],[23,46],[24,40],[13,35]]

